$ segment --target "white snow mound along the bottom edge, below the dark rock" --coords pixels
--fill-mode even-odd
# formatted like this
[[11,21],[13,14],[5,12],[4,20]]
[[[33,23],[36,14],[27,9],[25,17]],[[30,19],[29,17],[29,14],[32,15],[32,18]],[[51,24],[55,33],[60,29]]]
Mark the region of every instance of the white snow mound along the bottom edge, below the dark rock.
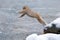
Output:
[[26,37],[26,40],[60,40],[60,34],[52,34],[52,33],[42,35],[31,34]]

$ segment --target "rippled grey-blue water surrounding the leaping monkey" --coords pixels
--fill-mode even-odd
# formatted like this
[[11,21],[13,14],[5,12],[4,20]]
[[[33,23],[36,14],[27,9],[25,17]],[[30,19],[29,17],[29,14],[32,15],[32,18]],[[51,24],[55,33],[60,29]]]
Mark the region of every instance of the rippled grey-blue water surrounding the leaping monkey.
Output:
[[60,16],[60,0],[0,0],[0,40],[25,40],[32,33],[43,33],[43,26],[33,18],[19,18],[24,5],[39,12],[47,23]]

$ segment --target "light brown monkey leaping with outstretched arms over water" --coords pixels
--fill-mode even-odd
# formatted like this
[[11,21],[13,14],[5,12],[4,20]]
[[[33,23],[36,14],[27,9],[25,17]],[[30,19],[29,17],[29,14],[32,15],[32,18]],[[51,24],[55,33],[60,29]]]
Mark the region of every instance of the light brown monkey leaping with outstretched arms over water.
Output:
[[30,16],[32,18],[36,18],[41,24],[46,25],[47,23],[43,20],[40,14],[37,12],[32,11],[28,6],[24,6],[22,8],[22,11],[19,11],[20,14],[22,14],[20,17],[23,17],[24,15]]

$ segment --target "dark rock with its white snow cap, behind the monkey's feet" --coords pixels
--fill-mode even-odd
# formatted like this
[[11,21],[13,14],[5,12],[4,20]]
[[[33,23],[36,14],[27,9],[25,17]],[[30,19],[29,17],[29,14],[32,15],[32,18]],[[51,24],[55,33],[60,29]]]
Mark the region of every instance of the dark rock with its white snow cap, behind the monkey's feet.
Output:
[[48,25],[46,25],[44,28],[44,32],[60,34],[60,18],[57,18]]

